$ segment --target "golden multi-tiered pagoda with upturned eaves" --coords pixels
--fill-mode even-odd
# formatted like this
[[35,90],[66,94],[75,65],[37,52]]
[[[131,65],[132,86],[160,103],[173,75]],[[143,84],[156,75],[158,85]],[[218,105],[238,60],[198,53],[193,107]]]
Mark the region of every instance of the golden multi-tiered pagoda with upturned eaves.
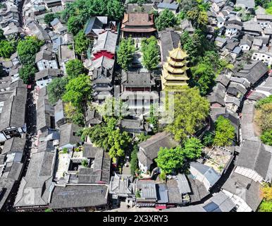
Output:
[[169,51],[166,62],[163,64],[163,71],[161,76],[161,88],[164,90],[167,87],[187,85],[187,54],[181,49],[180,44],[178,48]]

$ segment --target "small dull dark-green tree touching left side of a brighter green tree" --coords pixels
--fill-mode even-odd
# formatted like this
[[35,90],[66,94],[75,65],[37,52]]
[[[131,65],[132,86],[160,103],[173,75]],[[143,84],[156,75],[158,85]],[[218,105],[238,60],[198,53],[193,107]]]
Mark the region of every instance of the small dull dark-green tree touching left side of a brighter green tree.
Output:
[[47,85],[48,100],[51,105],[55,105],[65,93],[65,87],[68,84],[68,78],[54,78],[51,83]]

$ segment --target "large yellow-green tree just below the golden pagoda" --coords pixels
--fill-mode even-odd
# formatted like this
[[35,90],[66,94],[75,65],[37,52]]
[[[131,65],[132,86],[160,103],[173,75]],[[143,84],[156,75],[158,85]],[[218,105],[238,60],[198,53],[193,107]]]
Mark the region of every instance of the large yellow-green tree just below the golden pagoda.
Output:
[[209,114],[209,102],[199,95],[197,88],[183,86],[174,93],[174,118],[166,130],[171,132],[176,141],[192,136],[202,128]]

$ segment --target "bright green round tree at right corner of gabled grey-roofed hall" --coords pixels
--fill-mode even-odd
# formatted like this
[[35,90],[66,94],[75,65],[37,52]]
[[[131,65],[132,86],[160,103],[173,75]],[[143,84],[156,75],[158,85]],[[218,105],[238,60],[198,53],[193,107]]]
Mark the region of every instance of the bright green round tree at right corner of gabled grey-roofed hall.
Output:
[[180,147],[170,149],[160,148],[155,162],[161,169],[161,172],[171,174],[176,169],[183,167],[183,150]]

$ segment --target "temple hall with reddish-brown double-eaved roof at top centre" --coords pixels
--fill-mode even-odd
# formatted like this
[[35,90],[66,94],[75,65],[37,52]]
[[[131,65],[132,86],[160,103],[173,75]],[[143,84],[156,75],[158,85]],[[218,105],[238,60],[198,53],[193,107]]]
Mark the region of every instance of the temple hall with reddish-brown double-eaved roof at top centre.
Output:
[[153,14],[125,13],[121,30],[123,37],[149,37],[156,31]]

